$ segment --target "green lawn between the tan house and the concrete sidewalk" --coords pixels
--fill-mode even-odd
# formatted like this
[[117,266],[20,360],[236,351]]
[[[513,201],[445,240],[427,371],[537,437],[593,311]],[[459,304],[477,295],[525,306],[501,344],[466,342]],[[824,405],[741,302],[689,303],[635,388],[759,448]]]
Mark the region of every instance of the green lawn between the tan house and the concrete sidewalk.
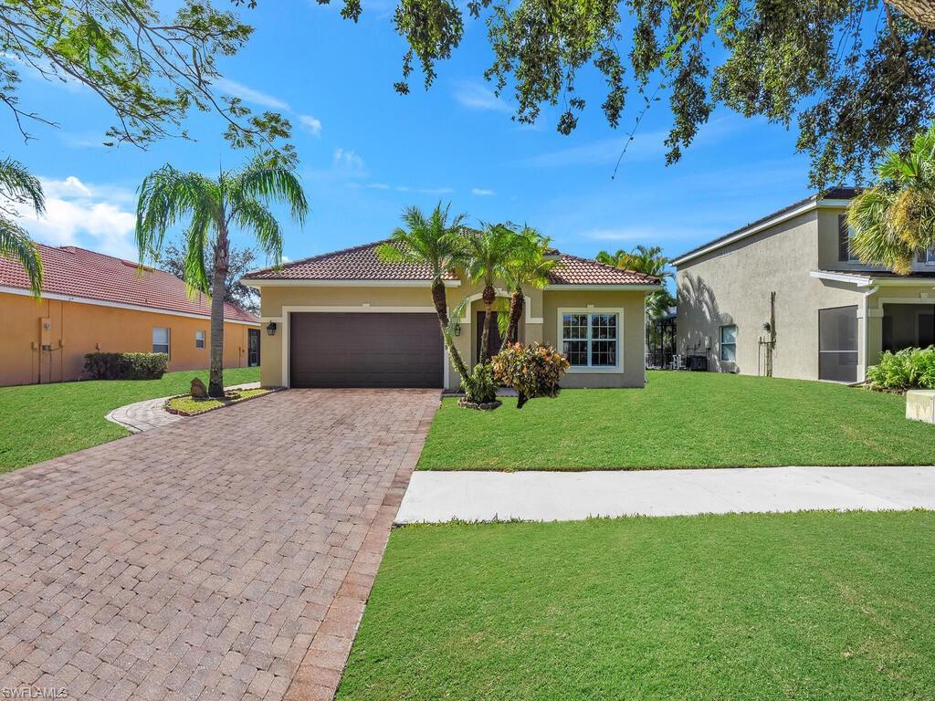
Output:
[[935,464],[905,398],[826,382],[651,372],[641,390],[563,390],[517,410],[446,398],[424,470]]

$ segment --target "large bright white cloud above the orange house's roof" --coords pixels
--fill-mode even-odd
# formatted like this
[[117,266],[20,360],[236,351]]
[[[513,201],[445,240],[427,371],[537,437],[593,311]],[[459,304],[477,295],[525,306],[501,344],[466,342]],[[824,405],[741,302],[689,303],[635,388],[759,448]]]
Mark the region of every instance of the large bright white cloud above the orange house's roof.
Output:
[[46,193],[45,215],[36,217],[35,212],[21,210],[22,224],[36,240],[136,260],[133,235],[137,216],[121,206],[132,202],[133,193],[88,185],[75,176],[40,180]]

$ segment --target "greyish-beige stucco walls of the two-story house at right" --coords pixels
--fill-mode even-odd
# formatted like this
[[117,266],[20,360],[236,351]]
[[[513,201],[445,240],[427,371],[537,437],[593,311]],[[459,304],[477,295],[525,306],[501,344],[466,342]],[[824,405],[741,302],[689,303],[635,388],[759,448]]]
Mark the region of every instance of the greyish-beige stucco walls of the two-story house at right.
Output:
[[[712,370],[746,375],[765,372],[770,334],[770,293],[775,293],[775,377],[818,379],[818,311],[856,307],[857,379],[877,362],[887,301],[933,294],[932,285],[907,287],[904,280],[861,286],[822,271],[866,274],[875,270],[839,260],[840,203],[818,202],[807,211],[768,225],[750,236],[678,263],[677,352],[706,354]],[[678,261],[678,259],[677,259]],[[931,271],[931,265],[918,264]],[[822,277],[819,277],[822,276]],[[932,300],[928,300],[932,304]],[[735,362],[720,359],[721,326],[737,327]]]

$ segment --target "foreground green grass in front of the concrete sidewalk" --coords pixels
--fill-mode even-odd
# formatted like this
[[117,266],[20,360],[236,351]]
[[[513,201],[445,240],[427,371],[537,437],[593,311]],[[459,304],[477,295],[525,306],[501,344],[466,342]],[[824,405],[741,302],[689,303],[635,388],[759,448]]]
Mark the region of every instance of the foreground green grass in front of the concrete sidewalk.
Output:
[[338,692],[930,699],[935,513],[397,529]]

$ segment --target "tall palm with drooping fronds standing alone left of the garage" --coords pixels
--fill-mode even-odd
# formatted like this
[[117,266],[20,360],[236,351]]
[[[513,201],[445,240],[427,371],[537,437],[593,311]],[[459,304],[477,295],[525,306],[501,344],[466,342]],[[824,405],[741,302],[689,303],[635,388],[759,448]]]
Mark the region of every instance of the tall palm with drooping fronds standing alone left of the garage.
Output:
[[[254,159],[217,179],[183,173],[171,165],[153,171],[139,186],[137,247],[139,263],[156,258],[165,233],[191,218],[185,231],[185,281],[192,291],[211,296],[211,369],[208,393],[223,396],[224,290],[229,271],[230,229],[251,233],[260,250],[280,265],[282,231],[268,205],[290,207],[292,218],[305,221],[308,203],[298,177],[289,168]],[[205,269],[210,254],[211,279]]]

